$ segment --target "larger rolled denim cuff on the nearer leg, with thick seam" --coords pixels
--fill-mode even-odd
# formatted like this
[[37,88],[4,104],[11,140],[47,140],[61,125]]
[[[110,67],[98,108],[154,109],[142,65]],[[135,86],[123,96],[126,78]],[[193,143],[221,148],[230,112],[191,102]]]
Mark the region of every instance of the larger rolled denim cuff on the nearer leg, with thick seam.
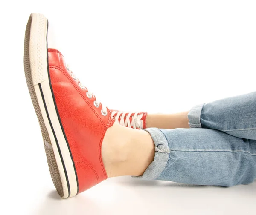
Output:
[[166,136],[157,128],[143,129],[151,135],[155,144],[154,161],[148,166],[143,175],[132,176],[134,178],[141,178],[146,180],[156,179],[163,172],[169,159],[169,146]]

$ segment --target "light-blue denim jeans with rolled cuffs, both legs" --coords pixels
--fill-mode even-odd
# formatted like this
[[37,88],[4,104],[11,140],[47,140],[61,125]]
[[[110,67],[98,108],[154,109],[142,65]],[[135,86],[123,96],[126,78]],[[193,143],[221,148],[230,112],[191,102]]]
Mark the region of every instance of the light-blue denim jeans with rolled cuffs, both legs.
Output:
[[137,178],[234,186],[256,179],[256,92],[193,107],[190,129],[145,129],[154,161]]

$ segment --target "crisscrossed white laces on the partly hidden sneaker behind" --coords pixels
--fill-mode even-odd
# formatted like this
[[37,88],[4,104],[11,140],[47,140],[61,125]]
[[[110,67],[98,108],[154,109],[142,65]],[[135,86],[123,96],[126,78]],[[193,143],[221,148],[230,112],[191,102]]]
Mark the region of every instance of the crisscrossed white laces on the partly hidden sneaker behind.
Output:
[[[114,116],[116,114],[116,116]],[[122,111],[113,111],[111,115],[115,118],[116,122],[118,122],[121,126],[127,126],[128,128],[133,127],[134,129],[143,129],[141,118],[143,114],[138,114],[138,112],[134,113],[131,112],[122,112]],[[126,116],[126,119],[125,119]],[[130,122],[130,117],[132,118]],[[120,118],[120,120],[119,120]]]

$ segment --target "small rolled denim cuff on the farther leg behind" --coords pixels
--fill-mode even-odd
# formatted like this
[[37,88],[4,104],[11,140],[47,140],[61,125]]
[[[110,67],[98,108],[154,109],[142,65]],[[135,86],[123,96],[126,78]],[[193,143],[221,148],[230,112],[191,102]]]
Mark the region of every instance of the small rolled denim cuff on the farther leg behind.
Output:
[[189,111],[189,127],[190,128],[202,128],[201,125],[201,111],[204,104],[196,105]]

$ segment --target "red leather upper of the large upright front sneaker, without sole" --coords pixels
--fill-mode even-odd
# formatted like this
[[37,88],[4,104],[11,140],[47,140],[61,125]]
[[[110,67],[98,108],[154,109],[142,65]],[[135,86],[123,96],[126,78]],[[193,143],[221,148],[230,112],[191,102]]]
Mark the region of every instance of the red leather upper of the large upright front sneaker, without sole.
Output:
[[[114,119],[101,114],[102,106],[93,105],[95,97],[86,96],[65,67],[63,55],[48,49],[49,73],[61,123],[76,167],[79,192],[107,178],[103,166],[101,146],[108,127]],[[86,81],[86,80],[85,80]]]

